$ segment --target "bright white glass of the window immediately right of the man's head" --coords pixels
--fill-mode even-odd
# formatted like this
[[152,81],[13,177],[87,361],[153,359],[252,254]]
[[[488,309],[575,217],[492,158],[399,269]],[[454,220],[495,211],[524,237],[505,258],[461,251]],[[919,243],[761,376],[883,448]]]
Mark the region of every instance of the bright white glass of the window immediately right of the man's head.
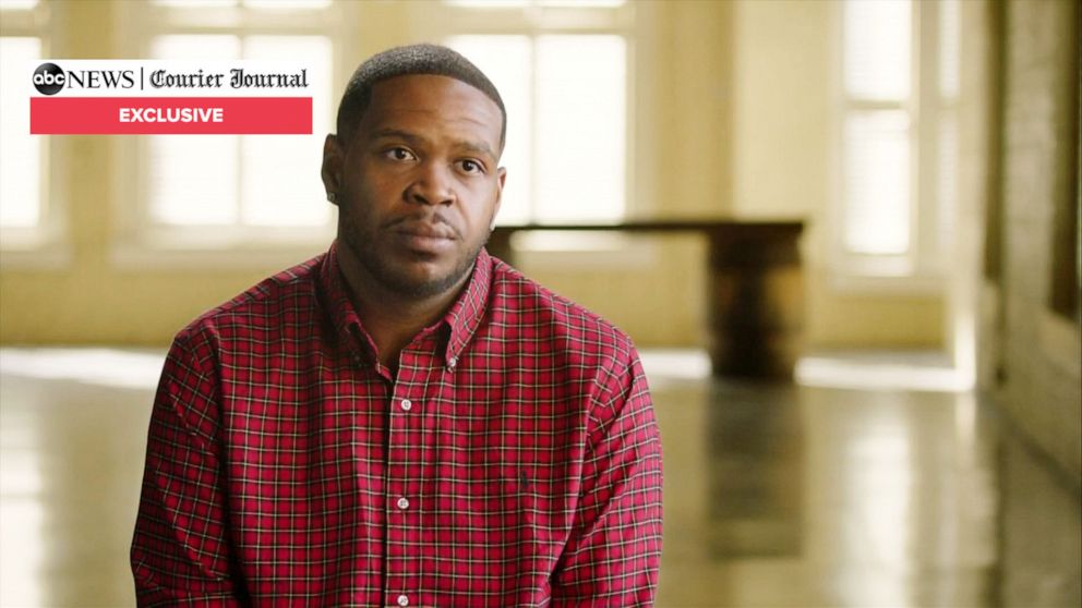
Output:
[[469,35],[447,44],[492,78],[507,107],[501,223],[620,219],[627,162],[624,38]]

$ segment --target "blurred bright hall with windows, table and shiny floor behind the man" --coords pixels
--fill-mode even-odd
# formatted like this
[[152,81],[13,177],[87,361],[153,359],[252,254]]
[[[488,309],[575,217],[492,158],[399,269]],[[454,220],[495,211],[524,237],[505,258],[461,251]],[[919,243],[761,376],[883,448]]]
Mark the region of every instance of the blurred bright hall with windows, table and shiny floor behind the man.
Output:
[[[1080,20],[1078,0],[0,0],[0,606],[135,605],[173,336],[327,250],[342,88],[428,41],[506,102],[490,251],[641,353],[659,607],[1079,607]],[[31,134],[46,60],[298,66],[312,134]]]

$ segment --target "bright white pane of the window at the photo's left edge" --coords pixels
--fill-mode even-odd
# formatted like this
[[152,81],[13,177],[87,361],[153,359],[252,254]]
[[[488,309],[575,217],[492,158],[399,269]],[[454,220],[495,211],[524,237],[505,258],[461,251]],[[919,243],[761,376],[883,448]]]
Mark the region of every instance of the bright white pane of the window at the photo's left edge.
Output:
[[41,136],[31,135],[23,68],[41,58],[41,40],[0,38],[0,226],[34,227],[41,219]]

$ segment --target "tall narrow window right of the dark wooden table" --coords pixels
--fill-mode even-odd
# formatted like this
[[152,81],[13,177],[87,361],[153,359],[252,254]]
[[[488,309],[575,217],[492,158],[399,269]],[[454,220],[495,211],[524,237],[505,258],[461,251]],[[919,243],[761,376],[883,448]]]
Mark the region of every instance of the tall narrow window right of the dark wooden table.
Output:
[[957,0],[842,4],[843,272],[935,277],[953,216]]

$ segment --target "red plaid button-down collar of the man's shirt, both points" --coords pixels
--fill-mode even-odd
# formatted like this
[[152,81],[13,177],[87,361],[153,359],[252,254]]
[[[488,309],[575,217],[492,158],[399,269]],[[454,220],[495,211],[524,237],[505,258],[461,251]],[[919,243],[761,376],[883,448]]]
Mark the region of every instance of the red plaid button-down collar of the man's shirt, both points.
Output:
[[[444,349],[444,363],[454,367],[462,351],[469,344],[477,329],[481,326],[489,300],[489,289],[492,277],[492,257],[484,248],[477,256],[466,288],[452,304],[447,314],[437,326],[450,329]],[[338,258],[338,241],[330,244],[320,269],[320,289],[324,293],[330,320],[338,335],[338,342],[357,362],[372,363],[375,361],[375,343],[361,325],[352,301],[346,278],[342,276]]]

